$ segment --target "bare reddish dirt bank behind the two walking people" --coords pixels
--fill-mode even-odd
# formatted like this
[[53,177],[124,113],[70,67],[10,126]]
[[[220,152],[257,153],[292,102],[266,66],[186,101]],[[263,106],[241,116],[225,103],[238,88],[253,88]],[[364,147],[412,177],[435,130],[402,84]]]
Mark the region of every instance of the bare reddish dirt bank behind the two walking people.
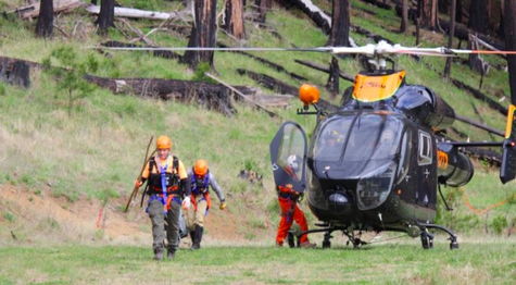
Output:
[[[126,197],[102,205],[81,198],[71,202],[51,190],[34,193],[26,187],[0,186],[0,244],[101,243],[151,244],[150,221],[139,206],[122,212]],[[215,205],[214,205],[215,206]],[[206,216],[205,245],[248,244],[243,218],[214,207]],[[183,246],[189,246],[185,238]]]

